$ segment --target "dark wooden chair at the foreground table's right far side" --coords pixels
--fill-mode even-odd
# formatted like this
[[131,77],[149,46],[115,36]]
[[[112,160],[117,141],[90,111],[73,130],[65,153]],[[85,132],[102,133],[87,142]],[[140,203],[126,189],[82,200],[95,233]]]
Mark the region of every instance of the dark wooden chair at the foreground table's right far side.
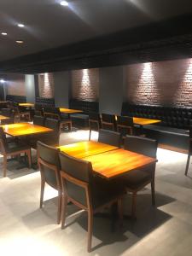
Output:
[[[156,158],[157,141],[144,137],[126,136],[124,148],[138,154]],[[131,215],[133,218],[136,217],[137,192],[143,189],[148,183],[151,183],[152,204],[155,205],[155,166],[155,164],[153,166],[146,166],[141,170],[129,172],[122,177],[126,190],[132,193]]]

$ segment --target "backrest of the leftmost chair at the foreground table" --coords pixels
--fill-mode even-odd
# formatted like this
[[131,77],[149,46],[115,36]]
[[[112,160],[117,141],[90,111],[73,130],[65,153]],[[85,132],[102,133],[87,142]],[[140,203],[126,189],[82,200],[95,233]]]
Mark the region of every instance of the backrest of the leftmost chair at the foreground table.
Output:
[[44,143],[37,143],[38,150],[38,165],[44,179],[50,186],[57,189],[61,187],[60,177],[60,149],[50,147]]

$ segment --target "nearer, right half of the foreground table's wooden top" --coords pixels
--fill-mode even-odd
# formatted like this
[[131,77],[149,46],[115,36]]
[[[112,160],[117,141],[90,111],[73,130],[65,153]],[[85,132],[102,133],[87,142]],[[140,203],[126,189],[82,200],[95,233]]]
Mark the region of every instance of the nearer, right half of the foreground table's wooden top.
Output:
[[105,178],[124,175],[127,172],[153,165],[157,160],[143,154],[137,154],[124,149],[111,150],[102,154],[85,157],[92,163],[93,171]]

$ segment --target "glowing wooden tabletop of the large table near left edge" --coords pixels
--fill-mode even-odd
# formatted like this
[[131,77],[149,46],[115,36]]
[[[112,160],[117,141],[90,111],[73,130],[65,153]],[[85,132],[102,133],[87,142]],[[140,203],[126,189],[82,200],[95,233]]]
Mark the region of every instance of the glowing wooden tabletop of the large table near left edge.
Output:
[[18,123],[18,124],[11,124],[11,125],[2,125],[3,131],[13,137],[16,136],[26,136],[30,134],[37,134],[43,132],[53,131],[44,126],[40,125],[32,125],[29,123]]

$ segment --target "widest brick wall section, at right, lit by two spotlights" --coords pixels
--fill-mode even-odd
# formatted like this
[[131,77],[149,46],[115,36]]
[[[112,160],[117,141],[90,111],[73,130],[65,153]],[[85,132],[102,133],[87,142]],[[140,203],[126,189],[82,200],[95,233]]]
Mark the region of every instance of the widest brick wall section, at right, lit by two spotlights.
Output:
[[148,62],[126,68],[128,102],[192,105],[192,59]]

